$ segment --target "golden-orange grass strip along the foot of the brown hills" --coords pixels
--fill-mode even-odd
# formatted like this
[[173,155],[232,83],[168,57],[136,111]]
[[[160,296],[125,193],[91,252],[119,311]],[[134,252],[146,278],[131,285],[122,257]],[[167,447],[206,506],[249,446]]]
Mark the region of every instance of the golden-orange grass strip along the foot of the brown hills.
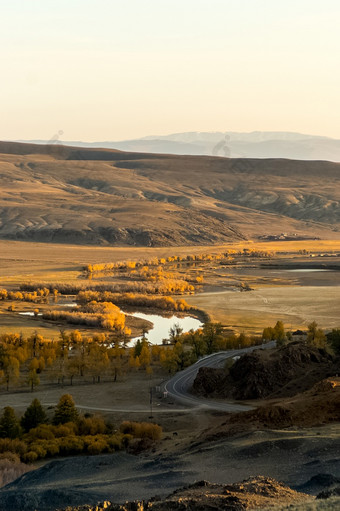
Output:
[[140,260],[154,256],[168,257],[173,254],[218,254],[227,250],[263,250],[277,252],[289,257],[301,250],[318,253],[340,253],[340,239],[300,241],[236,241],[223,245],[200,245],[180,247],[101,247],[57,243],[33,243],[29,241],[0,240],[1,276],[27,276],[79,271],[89,263]]

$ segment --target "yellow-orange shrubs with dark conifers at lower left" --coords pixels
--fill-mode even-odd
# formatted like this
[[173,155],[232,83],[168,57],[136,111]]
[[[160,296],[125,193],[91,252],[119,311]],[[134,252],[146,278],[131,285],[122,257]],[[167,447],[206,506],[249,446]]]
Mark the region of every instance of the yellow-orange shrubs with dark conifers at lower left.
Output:
[[[34,427],[27,427],[28,416]],[[100,416],[79,416],[69,394],[60,398],[52,422],[47,423],[37,399],[26,410],[21,425],[13,408],[6,407],[0,417],[0,459],[6,456],[33,463],[57,455],[112,453],[125,449],[133,438],[157,441],[162,434],[157,424],[125,422],[114,431]]]

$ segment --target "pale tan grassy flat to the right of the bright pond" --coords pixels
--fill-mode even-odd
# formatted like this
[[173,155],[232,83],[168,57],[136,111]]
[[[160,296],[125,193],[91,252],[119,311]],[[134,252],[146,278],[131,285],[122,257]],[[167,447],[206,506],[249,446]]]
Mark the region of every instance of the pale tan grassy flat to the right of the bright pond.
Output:
[[[340,275],[339,275],[340,278]],[[187,302],[204,308],[214,322],[236,331],[261,332],[277,319],[289,330],[306,329],[316,321],[325,329],[340,324],[340,287],[266,287],[251,293],[210,293],[188,297]]]

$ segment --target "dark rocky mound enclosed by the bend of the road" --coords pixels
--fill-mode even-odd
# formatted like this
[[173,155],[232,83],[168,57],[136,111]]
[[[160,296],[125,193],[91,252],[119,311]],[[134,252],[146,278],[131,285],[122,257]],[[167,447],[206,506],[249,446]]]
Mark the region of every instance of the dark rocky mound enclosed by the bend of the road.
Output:
[[326,350],[294,342],[275,351],[247,353],[229,370],[200,368],[193,391],[239,400],[287,397],[311,388],[339,369],[339,362]]

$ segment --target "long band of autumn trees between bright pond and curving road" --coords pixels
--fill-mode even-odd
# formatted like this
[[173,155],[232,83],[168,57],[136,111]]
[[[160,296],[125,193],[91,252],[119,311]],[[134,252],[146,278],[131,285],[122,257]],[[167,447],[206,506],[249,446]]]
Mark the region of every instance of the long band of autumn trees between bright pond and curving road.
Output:
[[41,379],[73,385],[83,381],[100,383],[103,379],[115,381],[134,370],[150,374],[156,367],[173,373],[214,351],[262,342],[261,337],[226,334],[215,323],[206,323],[188,333],[182,333],[175,325],[163,341],[165,344],[160,345],[149,345],[142,339],[128,348],[126,335],[122,333],[119,338],[120,341],[113,339],[109,333],[84,336],[79,330],[61,331],[57,341],[37,332],[29,337],[2,334],[0,383],[6,388],[26,386],[33,390]]

